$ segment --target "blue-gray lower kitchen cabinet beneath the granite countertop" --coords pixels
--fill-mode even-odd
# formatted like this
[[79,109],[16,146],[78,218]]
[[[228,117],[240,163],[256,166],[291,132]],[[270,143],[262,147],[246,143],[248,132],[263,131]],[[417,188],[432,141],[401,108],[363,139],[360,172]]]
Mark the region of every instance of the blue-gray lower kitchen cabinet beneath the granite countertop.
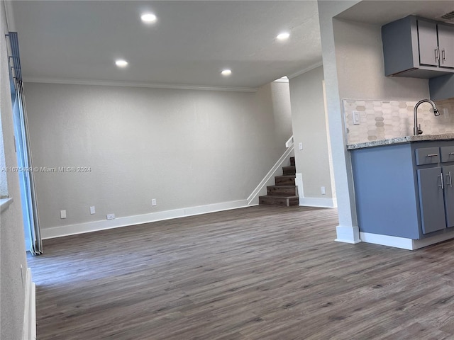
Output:
[[360,232],[409,239],[454,232],[454,140],[350,152]]

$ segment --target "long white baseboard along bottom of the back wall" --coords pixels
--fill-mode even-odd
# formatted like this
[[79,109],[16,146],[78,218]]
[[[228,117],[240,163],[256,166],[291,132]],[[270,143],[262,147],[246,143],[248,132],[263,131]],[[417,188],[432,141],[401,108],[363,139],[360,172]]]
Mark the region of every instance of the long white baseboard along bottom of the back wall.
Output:
[[59,227],[42,228],[41,236],[43,239],[53,239],[74,234],[83,234],[85,232],[96,232],[99,230],[114,229],[118,227],[128,227],[130,225],[140,225],[143,223],[170,220],[173,218],[206,214],[222,210],[231,210],[247,207],[246,200],[234,200],[231,202],[215,203],[209,205],[199,205],[196,207],[182,208],[175,210],[165,210],[160,212],[151,212],[144,215],[134,215],[127,217],[117,217],[114,220],[101,220],[77,225],[62,225]]

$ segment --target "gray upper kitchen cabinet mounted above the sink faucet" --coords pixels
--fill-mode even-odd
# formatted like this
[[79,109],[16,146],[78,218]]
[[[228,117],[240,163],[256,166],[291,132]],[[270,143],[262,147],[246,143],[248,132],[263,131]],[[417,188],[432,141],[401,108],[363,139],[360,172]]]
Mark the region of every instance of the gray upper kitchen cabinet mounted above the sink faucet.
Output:
[[416,16],[382,26],[384,74],[432,78],[454,73],[454,26]]

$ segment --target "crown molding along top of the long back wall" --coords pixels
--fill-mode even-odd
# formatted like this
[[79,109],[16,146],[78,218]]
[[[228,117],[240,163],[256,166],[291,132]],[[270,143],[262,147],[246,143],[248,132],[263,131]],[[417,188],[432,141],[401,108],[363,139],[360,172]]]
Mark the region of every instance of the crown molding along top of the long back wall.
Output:
[[70,84],[70,85],[99,85],[99,86],[123,86],[123,87],[147,87],[151,89],[177,89],[177,90],[199,90],[199,91],[236,91],[236,92],[257,92],[254,87],[223,87],[223,86],[196,86],[185,84],[160,84],[130,81],[94,81],[87,79],[55,79],[55,78],[28,78],[23,79],[26,83],[45,84]]

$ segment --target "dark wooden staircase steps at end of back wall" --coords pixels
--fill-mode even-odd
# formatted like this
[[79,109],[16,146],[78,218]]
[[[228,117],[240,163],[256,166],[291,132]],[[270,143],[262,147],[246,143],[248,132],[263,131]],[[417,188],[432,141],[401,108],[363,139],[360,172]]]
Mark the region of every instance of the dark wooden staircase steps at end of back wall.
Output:
[[267,186],[267,196],[260,196],[260,205],[299,205],[298,187],[295,186],[295,157],[290,157],[290,166],[282,166],[282,176],[275,176],[275,185]]

